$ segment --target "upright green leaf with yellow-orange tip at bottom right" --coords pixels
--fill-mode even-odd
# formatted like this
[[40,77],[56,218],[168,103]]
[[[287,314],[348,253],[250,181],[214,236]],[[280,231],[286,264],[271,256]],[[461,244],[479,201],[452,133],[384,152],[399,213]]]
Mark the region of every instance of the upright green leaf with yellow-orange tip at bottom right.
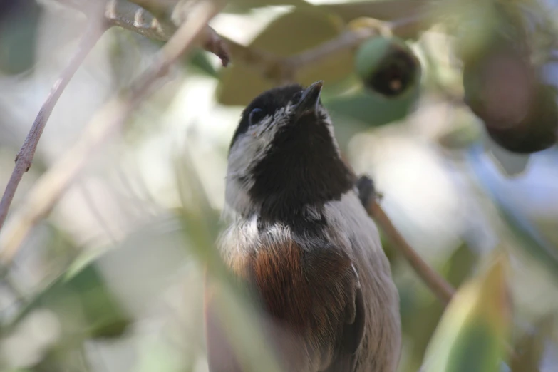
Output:
[[510,333],[507,259],[461,286],[428,345],[424,372],[497,372]]

